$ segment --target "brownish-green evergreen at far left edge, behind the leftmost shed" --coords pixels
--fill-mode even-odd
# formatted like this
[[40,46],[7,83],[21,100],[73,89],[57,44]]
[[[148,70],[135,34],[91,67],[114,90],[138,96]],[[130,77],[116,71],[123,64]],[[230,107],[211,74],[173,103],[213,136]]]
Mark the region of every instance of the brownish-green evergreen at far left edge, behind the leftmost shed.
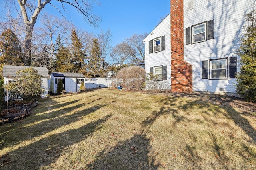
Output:
[[12,30],[6,29],[0,35],[0,62],[7,65],[23,65],[22,47]]

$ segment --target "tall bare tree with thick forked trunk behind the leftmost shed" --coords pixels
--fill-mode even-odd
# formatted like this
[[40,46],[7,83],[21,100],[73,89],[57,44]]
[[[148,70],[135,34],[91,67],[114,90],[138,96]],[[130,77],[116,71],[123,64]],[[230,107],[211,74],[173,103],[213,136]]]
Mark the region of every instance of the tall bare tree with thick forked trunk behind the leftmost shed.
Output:
[[[20,11],[16,7],[20,7]],[[56,10],[63,15],[61,10],[64,10],[64,6],[72,6],[78,12],[84,16],[85,20],[90,24],[95,25],[99,21],[98,16],[92,14],[92,2],[98,3],[95,0],[6,0],[7,4],[12,4],[13,8],[17,10],[18,14],[22,14],[25,27],[25,38],[24,38],[24,65],[30,66],[31,64],[31,45],[34,25],[38,19],[38,15],[41,13],[42,9],[52,5]],[[57,5],[60,4],[62,9],[59,9]]]

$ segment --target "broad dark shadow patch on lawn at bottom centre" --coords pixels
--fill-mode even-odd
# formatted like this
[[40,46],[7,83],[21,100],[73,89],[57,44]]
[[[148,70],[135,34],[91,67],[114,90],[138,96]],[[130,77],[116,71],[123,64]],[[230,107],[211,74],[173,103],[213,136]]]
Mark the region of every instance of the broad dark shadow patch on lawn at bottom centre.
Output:
[[157,166],[154,164],[154,158],[149,158],[150,139],[145,134],[136,134],[131,139],[119,141],[112,148],[104,149],[96,157],[93,164],[85,167],[86,169],[98,170],[154,170]]

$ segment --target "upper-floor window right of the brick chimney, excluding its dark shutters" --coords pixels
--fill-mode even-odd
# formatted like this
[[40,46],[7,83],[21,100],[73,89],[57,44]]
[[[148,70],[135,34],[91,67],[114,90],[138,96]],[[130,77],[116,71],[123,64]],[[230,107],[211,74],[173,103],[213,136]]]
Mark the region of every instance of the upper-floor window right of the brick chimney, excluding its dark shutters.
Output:
[[206,41],[206,23],[192,26],[192,43]]

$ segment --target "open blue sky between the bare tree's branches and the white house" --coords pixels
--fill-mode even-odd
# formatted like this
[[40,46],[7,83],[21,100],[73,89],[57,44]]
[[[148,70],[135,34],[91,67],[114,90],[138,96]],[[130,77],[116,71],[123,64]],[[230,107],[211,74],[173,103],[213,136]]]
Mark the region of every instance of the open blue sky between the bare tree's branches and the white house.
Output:
[[[90,26],[76,10],[66,10],[64,16],[80,29],[100,33],[111,30],[112,45],[136,34],[150,33],[160,18],[170,13],[170,0],[98,0],[101,6],[95,6],[92,11],[101,17],[98,28]],[[70,9],[70,8],[67,8]],[[46,7],[46,12],[59,15],[54,9]],[[55,12],[54,12],[55,11]],[[54,13],[53,13],[54,12]],[[60,16],[61,17],[61,16]]]

